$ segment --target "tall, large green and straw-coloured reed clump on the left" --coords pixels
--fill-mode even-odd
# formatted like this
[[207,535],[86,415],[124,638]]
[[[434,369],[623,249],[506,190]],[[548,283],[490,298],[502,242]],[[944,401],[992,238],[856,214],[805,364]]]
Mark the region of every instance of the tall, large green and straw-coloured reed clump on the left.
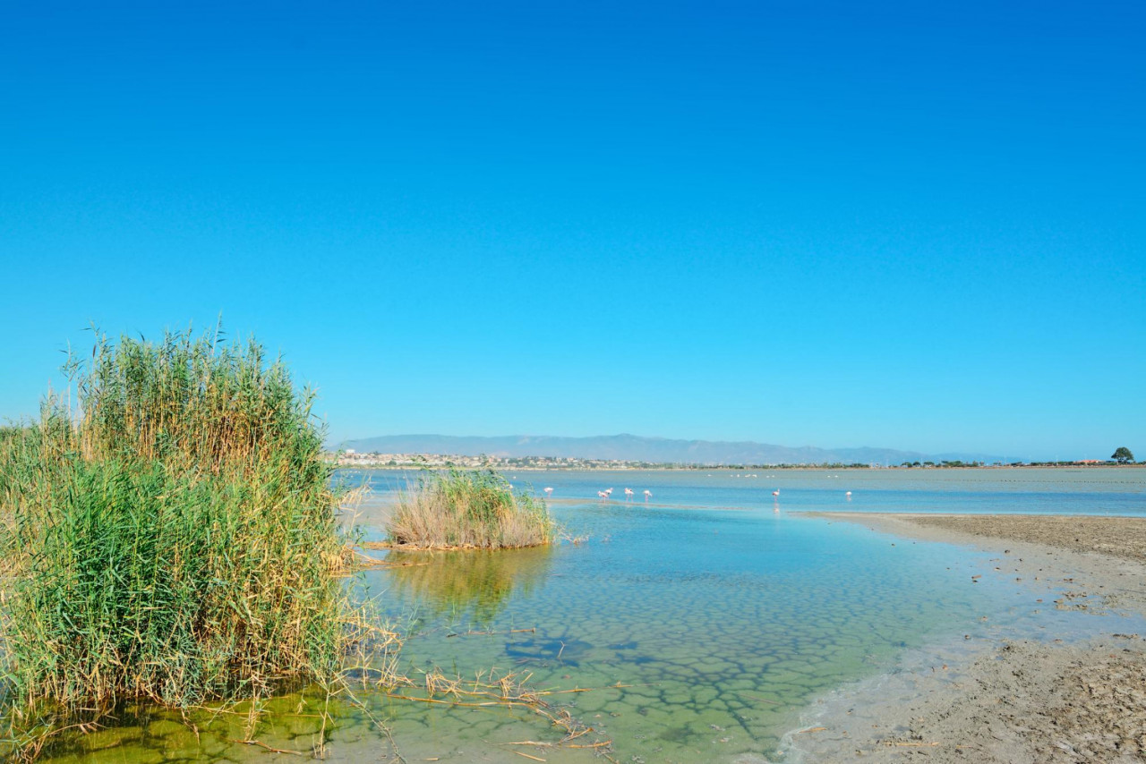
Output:
[[286,367],[96,337],[71,395],[0,433],[9,746],[132,699],[332,682],[352,640],[331,465]]

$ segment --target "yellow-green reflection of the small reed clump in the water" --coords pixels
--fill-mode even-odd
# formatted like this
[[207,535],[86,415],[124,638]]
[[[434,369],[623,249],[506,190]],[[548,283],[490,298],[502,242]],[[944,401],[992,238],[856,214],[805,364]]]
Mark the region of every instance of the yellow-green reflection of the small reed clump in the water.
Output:
[[552,565],[551,546],[457,552],[391,552],[391,589],[419,600],[435,615],[460,620],[470,615],[488,623],[510,596],[528,596]]

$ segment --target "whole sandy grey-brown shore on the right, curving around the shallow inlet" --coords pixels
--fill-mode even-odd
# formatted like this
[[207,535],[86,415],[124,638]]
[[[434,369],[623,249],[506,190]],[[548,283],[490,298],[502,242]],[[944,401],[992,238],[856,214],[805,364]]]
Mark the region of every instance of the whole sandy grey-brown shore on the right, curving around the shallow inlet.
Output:
[[[1096,617],[1072,643],[983,639],[906,655],[831,693],[785,740],[799,762],[1146,761],[1146,519],[818,513],[966,545],[982,573]],[[1125,627],[1133,627],[1128,629]]]

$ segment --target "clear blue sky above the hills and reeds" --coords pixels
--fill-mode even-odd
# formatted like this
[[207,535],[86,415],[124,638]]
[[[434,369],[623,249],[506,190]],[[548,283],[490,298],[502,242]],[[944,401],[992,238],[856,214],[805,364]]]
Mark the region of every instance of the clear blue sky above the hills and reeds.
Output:
[[0,418],[218,314],[333,439],[1146,456],[1146,6],[8,2]]

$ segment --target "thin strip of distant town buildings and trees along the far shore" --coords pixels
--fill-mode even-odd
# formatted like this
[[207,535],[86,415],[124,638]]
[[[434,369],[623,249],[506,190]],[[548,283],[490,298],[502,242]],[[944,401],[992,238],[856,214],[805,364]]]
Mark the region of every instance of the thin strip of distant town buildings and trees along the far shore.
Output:
[[879,463],[823,463],[823,464],[689,464],[638,462],[630,459],[583,459],[564,456],[492,456],[481,454],[468,456],[461,454],[382,454],[359,452],[346,449],[330,455],[338,466],[360,467],[369,470],[419,470],[461,467],[465,470],[945,470],[959,467],[1091,467],[1117,466],[1113,459],[1077,459],[1074,462],[902,462],[900,464]]

